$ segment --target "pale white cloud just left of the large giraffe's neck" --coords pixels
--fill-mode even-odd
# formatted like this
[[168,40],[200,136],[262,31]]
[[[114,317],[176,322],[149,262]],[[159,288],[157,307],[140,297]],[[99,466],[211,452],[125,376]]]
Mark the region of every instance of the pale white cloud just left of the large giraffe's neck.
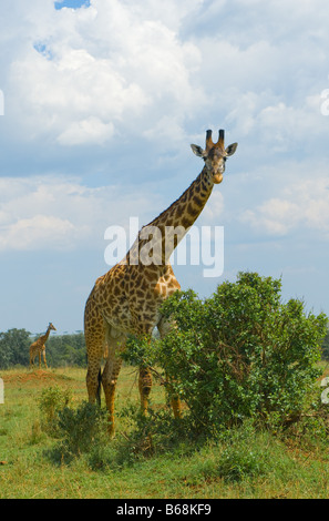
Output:
[[80,180],[48,176],[0,178],[0,251],[76,249],[104,245],[110,225],[141,226],[163,210],[147,187],[90,188]]

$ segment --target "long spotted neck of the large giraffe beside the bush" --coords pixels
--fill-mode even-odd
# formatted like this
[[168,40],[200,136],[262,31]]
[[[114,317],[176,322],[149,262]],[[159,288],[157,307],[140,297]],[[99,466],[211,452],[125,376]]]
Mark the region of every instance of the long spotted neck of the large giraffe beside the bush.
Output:
[[[140,252],[142,252],[146,245],[147,252],[150,252],[152,242],[152,254],[154,255],[156,248],[158,252],[158,255],[154,255],[154,258],[157,259],[155,264],[167,264],[175,247],[202,213],[212,194],[213,186],[214,183],[209,180],[207,170],[204,167],[177,201],[141,229],[127,256],[136,258],[136,249],[134,248],[137,246]],[[147,246],[147,241],[150,246]]]

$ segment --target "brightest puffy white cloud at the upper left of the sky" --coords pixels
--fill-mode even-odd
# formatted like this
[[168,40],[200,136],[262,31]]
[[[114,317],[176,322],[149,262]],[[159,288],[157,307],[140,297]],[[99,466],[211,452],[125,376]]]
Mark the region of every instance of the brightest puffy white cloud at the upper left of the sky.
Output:
[[201,103],[192,81],[199,52],[177,33],[187,2],[172,12],[166,6],[160,18],[148,3],[94,0],[89,9],[60,11],[47,3],[34,23],[34,10],[23,9],[30,30],[16,49],[8,91],[24,135],[102,144],[142,123],[147,136],[165,106],[175,126]]

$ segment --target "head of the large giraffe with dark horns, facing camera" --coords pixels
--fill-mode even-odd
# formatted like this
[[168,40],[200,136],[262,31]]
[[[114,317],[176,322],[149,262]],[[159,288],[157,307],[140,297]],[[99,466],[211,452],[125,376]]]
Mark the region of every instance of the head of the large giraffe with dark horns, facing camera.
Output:
[[212,131],[208,130],[206,133],[206,149],[203,150],[198,145],[191,145],[193,152],[203,157],[205,161],[205,167],[210,176],[213,183],[218,184],[223,181],[223,174],[225,172],[225,163],[229,155],[233,155],[237,149],[237,143],[224,146],[224,130],[219,130],[219,137],[217,143],[213,142]]

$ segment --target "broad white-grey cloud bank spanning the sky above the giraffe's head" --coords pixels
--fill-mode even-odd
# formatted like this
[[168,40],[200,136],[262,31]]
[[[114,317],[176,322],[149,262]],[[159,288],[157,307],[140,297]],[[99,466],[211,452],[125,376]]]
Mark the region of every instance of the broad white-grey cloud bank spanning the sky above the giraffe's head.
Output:
[[165,123],[173,146],[192,124],[225,124],[245,141],[258,133],[275,152],[310,127],[322,142],[328,10],[320,0],[247,3],[91,0],[59,10],[13,0],[20,19],[3,8],[0,64],[16,136],[66,147],[136,135],[161,143]]

